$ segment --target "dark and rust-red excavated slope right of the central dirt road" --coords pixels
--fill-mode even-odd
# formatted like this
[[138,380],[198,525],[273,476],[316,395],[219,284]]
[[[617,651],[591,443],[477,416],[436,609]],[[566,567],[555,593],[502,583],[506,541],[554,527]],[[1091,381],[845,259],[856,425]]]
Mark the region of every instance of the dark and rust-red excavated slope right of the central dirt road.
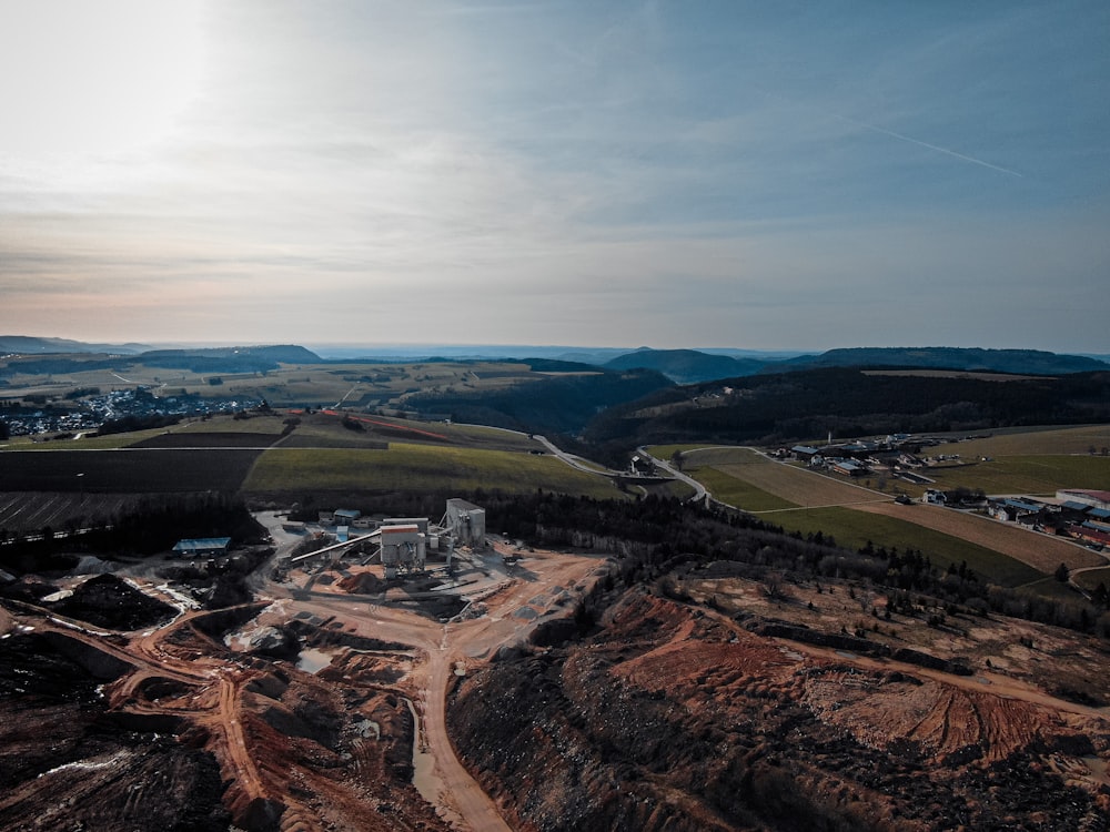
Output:
[[454,741],[525,831],[1110,828],[1104,710],[740,618],[628,590],[461,681]]

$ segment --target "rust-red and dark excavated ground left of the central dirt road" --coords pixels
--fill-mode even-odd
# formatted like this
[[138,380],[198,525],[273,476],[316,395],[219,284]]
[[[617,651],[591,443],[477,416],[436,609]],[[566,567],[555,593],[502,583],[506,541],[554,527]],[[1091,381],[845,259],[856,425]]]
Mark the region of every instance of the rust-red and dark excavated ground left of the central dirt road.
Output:
[[[128,627],[118,590],[98,580],[67,611]],[[109,632],[6,603],[0,829],[448,829],[412,783],[413,719],[391,690],[408,657],[336,650],[312,674],[224,646],[265,605]]]

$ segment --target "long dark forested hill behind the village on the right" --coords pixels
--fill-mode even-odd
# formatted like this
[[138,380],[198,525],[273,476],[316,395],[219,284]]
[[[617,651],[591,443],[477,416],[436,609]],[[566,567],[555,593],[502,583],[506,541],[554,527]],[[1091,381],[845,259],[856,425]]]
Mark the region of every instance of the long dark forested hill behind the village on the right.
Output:
[[599,414],[584,438],[627,445],[788,443],[825,436],[1110,420],[1110,372],[987,381],[829,368],[660,390]]

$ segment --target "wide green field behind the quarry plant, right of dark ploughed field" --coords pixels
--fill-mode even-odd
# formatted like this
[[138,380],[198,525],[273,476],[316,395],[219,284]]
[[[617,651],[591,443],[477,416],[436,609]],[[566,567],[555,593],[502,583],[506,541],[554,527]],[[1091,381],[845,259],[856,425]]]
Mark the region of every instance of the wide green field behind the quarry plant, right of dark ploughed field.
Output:
[[369,448],[273,448],[243,485],[249,493],[302,490],[442,491],[536,488],[591,497],[618,497],[606,477],[576,470],[553,456],[505,450],[390,443]]

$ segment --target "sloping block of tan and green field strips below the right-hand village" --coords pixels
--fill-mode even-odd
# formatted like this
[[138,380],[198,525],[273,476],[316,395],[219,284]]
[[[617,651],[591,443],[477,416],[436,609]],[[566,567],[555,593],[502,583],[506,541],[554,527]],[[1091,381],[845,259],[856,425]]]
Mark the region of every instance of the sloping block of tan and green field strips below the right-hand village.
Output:
[[[656,449],[656,454],[665,450]],[[1074,544],[977,515],[936,506],[900,506],[878,491],[774,461],[750,448],[685,449],[683,461],[686,473],[717,499],[787,530],[821,531],[854,548],[869,540],[917,548],[939,566],[966,560],[972,569],[1009,586],[1051,574],[1060,564],[1082,568],[1106,562]]]

